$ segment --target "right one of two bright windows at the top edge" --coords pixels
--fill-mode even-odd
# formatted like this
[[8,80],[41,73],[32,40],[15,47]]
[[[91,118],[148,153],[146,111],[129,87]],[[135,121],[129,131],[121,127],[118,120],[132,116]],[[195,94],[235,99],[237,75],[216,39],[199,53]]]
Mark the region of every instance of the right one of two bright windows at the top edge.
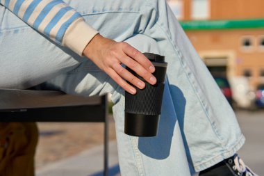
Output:
[[192,0],[192,19],[208,19],[210,16],[210,6],[208,0]]

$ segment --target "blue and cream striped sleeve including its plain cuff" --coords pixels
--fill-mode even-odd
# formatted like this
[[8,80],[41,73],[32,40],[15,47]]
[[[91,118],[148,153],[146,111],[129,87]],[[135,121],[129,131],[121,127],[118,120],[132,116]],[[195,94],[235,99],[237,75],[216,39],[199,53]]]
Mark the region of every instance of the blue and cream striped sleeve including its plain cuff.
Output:
[[98,32],[61,0],[0,0],[17,17],[79,55]]

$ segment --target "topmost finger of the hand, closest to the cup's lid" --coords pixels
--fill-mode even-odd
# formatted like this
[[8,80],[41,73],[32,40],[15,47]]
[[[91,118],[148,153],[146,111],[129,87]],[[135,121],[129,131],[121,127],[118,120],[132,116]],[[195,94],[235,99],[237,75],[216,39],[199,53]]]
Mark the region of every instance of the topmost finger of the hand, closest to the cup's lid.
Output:
[[144,54],[142,54],[140,51],[138,51],[134,47],[131,47],[131,45],[126,43],[123,47],[123,51],[126,55],[130,56],[135,61],[140,63],[140,65],[145,67],[145,69],[148,70],[149,72],[151,73],[155,72],[155,67],[151,63],[151,61],[149,61],[149,59],[146,56],[144,56]]

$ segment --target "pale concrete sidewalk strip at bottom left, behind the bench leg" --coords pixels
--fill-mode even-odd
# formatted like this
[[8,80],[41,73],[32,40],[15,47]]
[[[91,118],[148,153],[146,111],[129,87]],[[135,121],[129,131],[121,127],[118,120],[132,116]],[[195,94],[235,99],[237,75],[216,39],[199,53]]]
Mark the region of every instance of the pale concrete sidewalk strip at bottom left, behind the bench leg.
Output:
[[[102,176],[104,171],[104,145],[83,151],[73,157],[49,163],[36,170],[36,176]],[[109,175],[119,174],[117,143],[109,143]]]

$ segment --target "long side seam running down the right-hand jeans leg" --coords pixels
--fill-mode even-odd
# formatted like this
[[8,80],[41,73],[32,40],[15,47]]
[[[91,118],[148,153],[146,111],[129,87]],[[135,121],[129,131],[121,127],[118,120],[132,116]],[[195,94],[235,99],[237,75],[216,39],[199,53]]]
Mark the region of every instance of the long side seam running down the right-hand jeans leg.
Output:
[[[218,143],[218,145],[220,145],[223,149],[226,149],[224,147],[224,145],[222,144],[222,138],[219,136],[218,134],[218,130],[215,129],[215,125],[213,125],[214,122],[211,121],[211,118],[209,118],[209,114],[208,111],[206,111],[206,105],[202,103],[201,101],[201,97],[199,96],[199,93],[197,92],[197,90],[195,90],[195,85],[193,85],[194,83],[192,83],[191,81],[191,77],[190,75],[192,74],[192,72],[188,69],[186,63],[184,63],[183,61],[183,54],[181,54],[181,51],[179,49],[177,49],[177,47],[174,45],[174,43],[172,42],[172,39],[170,38],[169,35],[167,35],[167,33],[165,32],[165,30],[163,30],[162,26],[160,26],[160,24],[158,24],[158,22],[156,22],[156,25],[160,27],[160,29],[163,31],[163,33],[165,33],[165,35],[167,36],[167,38],[169,39],[169,41],[171,42],[172,46],[174,47],[174,51],[176,51],[175,53],[177,54],[177,56],[179,57],[179,60],[181,62],[182,67],[184,68],[184,73],[186,75],[186,77],[188,77],[188,81],[190,83],[190,85],[192,86],[192,90],[195,92],[195,95],[197,96],[197,99],[199,99],[199,104],[201,105],[202,109],[204,110],[204,113],[206,115],[206,118],[209,120],[209,122],[211,123],[211,126],[213,128],[213,131],[215,131],[215,136],[217,136],[217,138],[219,139],[220,143]],[[186,72],[188,70],[188,73]]]

